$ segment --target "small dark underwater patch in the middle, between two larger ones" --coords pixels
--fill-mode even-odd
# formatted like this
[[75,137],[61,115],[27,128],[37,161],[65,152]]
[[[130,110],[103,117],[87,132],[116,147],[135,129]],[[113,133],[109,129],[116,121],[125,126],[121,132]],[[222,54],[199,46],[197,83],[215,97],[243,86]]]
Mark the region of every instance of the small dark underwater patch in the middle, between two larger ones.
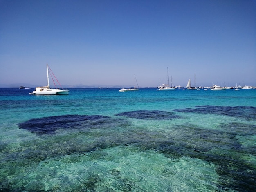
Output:
[[116,114],[117,116],[126,116],[129,118],[137,118],[137,119],[173,119],[180,118],[174,114],[174,112],[166,112],[166,111],[148,111],[148,110],[138,110],[138,111],[130,111],[130,112],[122,112]]

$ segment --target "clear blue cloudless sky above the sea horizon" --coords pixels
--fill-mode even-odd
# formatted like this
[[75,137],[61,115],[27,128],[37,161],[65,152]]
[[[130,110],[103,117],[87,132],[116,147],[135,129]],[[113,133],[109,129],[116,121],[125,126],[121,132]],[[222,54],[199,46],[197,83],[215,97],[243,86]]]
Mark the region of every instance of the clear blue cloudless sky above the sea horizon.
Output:
[[0,86],[46,63],[62,85],[256,86],[256,0],[0,0]]

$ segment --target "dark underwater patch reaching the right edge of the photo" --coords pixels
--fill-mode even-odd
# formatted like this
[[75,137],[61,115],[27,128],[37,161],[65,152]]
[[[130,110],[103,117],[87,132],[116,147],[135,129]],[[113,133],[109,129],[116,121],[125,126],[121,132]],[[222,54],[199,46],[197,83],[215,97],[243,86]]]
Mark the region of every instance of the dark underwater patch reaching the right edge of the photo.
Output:
[[238,118],[256,119],[256,107],[250,106],[195,106],[195,108],[175,109],[175,112],[205,113]]

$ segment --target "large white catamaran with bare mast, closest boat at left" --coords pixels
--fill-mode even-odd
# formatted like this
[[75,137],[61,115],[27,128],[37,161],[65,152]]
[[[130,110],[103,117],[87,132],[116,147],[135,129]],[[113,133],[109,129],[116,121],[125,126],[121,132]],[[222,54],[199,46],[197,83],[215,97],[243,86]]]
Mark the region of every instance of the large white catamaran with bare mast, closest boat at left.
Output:
[[[69,90],[58,89],[58,88],[56,88],[56,89],[50,88],[49,69],[48,69],[48,64],[47,63],[46,63],[46,68],[47,68],[47,83],[48,83],[48,85],[43,86],[43,87],[36,87],[36,89],[32,93],[29,93],[29,94],[33,94],[33,95],[36,95],[36,94],[40,94],[40,95],[68,95]],[[54,76],[54,74],[53,74],[53,76]],[[57,80],[57,82],[58,82],[58,80]]]

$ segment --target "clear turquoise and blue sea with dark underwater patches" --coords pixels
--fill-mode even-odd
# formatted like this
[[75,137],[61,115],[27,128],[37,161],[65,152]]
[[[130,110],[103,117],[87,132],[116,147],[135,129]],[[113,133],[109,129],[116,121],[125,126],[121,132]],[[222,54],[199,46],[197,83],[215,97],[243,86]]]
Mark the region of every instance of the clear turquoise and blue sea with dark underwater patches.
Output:
[[0,88],[0,191],[253,192],[256,89]]

